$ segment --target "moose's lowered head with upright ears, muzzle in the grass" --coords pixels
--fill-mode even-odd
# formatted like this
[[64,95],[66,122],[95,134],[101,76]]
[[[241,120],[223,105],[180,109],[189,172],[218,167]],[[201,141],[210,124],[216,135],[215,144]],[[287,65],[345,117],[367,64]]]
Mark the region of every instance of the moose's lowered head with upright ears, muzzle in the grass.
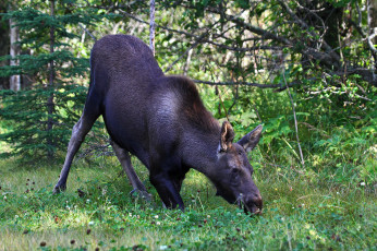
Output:
[[239,203],[245,212],[262,212],[263,200],[252,176],[253,167],[246,153],[259,142],[263,127],[259,124],[252,132],[233,143],[234,131],[226,121],[222,123],[220,142],[217,150],[216,169],[209,177],[217,188],[217,194],[229,203]]

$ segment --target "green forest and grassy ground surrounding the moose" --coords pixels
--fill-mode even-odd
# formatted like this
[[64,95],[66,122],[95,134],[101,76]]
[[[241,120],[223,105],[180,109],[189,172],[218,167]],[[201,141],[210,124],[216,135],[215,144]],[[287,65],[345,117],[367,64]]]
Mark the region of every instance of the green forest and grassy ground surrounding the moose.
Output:
[[[234,142],[263,125],[259,215],[193,169],[166,208],[135,156],[151,200],[133,193],[102,118],[53,193],[109,34],[190,77]],[[376,0],[0,2],[0,250],[375,250],[376,131]]]

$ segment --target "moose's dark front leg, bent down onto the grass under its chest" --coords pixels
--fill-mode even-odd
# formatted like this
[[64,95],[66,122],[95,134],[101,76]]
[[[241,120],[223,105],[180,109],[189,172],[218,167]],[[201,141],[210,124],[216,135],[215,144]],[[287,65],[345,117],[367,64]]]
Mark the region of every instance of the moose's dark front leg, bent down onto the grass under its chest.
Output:
[[150,183],[156,188],[163,204],[168,208],[175,208],[177,205],[181,211],[184,211],[182,198],[178,191],[177,182],[167,174],[150,174]]

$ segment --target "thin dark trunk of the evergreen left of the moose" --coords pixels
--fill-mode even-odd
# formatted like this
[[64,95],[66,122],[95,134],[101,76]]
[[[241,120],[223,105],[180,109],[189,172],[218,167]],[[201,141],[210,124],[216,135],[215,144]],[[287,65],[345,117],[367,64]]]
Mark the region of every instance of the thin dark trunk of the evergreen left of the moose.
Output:
[[[54,16],[54,0],[50,0],[50,15]],[[50,55],[53,53],[53,46],[54,46],[54,28],[50,27]],[[49,84],[48,89],[50,91],[50,96],[47,100],[47,112],[48,112],[48,121],[47,121],[47,131],[52,131],[53,125],[53,110],[54,110],[54,103],[53,103],[53,82],[54,82],[54,68],[53,68],[53,60],[50,61],[50,74],[49,74]],[[52,136],[48,136],[47,144],[49,146],[47,155],[48,157],[53,157],[53,140]]]

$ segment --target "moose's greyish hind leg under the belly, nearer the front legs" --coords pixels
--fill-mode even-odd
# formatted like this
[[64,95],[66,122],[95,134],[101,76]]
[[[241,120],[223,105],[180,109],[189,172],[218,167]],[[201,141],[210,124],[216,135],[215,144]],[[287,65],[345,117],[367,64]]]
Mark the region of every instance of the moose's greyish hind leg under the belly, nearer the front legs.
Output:
[[150,201],[151,195],[147,192],[145,186],[139,180],[137,174],[135,172],[135,169],[131,165],[131,156],[127,151],[119,146],[114,141],[110,140],[110,144],[112,148],[115,152],[115,155],[121,163],[123,170],[125,175],[127,176],[132,187],[134,188],[134,191],[137,191],[145,200]]

